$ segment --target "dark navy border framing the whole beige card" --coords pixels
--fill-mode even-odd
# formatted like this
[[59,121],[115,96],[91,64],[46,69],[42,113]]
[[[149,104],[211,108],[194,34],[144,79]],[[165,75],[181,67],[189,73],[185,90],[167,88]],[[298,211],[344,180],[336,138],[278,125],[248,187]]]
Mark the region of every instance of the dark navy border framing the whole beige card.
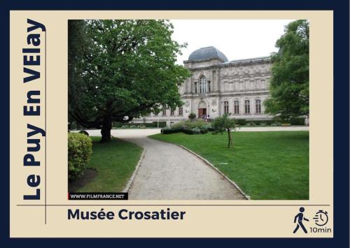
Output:
[[[0,247],[210,246],[218,247],[349,247],[349,1],[216,0],[202,1],[0,1],[1,10],[1,243]],[[335,238],[225,239],[85,239],[9,238],[9,10],[334,10],[334,233]],[[53,32],[53,31],[52,31]],[[325,113],[327,115],[327,113]],[[118,232],[118,230],[116,230]]]

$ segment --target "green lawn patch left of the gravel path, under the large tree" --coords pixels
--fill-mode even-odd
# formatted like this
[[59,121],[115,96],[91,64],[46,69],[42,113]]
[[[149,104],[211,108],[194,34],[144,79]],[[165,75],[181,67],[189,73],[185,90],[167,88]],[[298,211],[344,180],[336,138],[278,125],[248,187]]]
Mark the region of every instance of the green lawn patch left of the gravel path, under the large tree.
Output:
[[130,179],[140,159],[142,148],[115,138],[110,143],[99,143],[101,137],[92,138],[92,155],[87,168],[98,173],[80,192],[120,192]]

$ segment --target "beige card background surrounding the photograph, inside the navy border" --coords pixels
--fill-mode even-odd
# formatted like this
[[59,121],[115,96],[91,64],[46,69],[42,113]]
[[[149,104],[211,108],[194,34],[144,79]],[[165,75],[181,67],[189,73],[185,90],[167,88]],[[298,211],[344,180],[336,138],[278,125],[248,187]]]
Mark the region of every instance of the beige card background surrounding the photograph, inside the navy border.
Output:
[[[23,168],[26,124],[43,127],[45,116],[23,117],[29,89],[41,89],[43,78],[34,85],[22,83],[22,48],[26,48],[27,18],[47,29],[47,224],[43,206],[22,200],[27,174],[43,175],[44,167]],[[309,19],[310,20],[310,164],[309,200],[67,200],[67,20],[69,19]],[[42,59],[43,52],[41,52]],[[42,75],[44,75],[42,73]],[[43,95],[42,112],[44,111]],[[332,228],[332,11],[11,11],[10,12],[10,235],[12,237],[297,237],[293,217],[299,205],[311,220],[320,207],[330,213]],[[44,143],[41,143],[42,147]],[[43,160],[43,153],[37,158]],[[26,170],[28,169],[28,170]],[[45,178],[43,178],[45,180]],[[43,183],[41,187],[43,189]],[[42,192],[42,194],[44,191]],[[43,204],[45,199],[35,204]],[[186,211],[183,221],[68,221],[70,204],[116,205],[216,205],[248,204],[272,206],[170,206]],[[293,205],[293,206],[274,206]],[[73,207],[71,207],[73,208]],[[101,207],[79,207],[100,210]],[[127,206],[128,210],[160,210],[166,207]],[[107,210],[120,207],[106,206]],[[307,224],[306,224],[307,225]],[[30,226],[30,228],[29,228]],[[308,233],[303,237],[332,233]]]

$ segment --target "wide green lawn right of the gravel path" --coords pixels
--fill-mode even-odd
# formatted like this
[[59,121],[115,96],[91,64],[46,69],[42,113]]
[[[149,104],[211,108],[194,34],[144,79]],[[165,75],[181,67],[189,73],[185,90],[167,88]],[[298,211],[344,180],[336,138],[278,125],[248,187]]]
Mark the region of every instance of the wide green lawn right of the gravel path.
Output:
[[309,199],[309,131],[235,132],[232,137],[235,147],[228,149],[226,133],[150,136],[200,154],[251,199]]

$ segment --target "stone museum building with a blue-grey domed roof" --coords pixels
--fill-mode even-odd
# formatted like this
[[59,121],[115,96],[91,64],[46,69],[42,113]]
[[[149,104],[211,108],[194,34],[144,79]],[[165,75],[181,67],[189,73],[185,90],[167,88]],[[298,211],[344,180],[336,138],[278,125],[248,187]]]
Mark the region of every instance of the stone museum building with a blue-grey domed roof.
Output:
[[190,112],[197,118],[214,119],[231,113],[235,119],[272,119],[265,114],[264,101],[269,94],[271,77],[269,57],[229,61],[214,47],[200,48],[183,61],[191,76],[180,87],[183,106],[174,110],[163,108],[134,122],[167,122],[170,125],[188,119]]

